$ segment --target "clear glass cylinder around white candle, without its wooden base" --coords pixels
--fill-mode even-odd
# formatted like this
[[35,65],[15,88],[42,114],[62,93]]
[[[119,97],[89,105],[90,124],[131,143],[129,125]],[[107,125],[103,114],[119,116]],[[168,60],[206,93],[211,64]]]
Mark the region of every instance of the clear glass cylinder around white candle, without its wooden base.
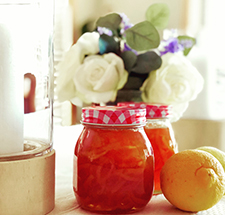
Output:
[[0,160],[52,149],[52,34],[52,0],[1,1]]

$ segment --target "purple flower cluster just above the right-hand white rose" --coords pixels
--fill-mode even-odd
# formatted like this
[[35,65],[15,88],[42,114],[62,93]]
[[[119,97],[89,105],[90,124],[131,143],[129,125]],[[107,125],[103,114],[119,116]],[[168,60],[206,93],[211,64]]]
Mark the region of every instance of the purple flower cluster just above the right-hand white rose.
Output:
[[163,51],[160,51],[161,56],[170,52],[175,53],[184,50],[184,46],[179,43],[177,38],[170,38],[167,41],[164,41],[166,45],[163,47]]

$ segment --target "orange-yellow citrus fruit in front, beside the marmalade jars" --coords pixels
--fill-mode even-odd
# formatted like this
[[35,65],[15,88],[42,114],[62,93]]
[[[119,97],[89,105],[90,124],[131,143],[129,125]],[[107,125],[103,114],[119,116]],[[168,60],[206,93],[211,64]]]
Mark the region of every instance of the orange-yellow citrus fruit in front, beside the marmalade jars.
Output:
[[207,210],[223,197],[225,173],[220,162],[202,150],[185,150],[170,157],[160,174],[161,189],[175,207]]

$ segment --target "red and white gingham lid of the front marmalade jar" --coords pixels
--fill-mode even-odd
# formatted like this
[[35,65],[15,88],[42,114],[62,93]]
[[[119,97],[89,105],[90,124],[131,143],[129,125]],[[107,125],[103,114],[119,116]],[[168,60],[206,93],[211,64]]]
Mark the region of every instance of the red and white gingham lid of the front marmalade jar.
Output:
[[82,108],[82,122],[105,125],[140,125],[146,122],[144,108],[95,106]]

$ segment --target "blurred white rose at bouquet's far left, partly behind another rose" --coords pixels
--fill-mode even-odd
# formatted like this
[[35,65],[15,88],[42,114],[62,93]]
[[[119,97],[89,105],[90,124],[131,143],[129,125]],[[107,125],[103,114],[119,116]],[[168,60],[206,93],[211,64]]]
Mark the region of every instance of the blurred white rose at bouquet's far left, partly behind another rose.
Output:
[[99,52],[98,41],[97,32],[83,34],[56,66],[56,95],[60,102],[76,100],[77,92],[73,82],[75,71],[83,63],[86,55]]

